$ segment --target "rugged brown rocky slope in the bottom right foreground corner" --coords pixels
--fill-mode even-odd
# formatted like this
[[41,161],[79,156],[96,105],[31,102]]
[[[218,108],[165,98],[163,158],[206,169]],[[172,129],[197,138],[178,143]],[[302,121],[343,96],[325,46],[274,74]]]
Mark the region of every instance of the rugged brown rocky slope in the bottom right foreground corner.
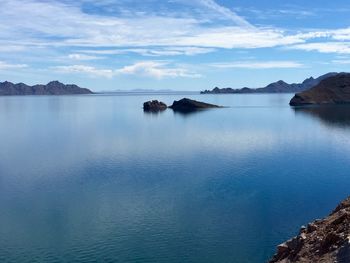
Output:
[[350,262],[350,197],[277,247],[270,263]]

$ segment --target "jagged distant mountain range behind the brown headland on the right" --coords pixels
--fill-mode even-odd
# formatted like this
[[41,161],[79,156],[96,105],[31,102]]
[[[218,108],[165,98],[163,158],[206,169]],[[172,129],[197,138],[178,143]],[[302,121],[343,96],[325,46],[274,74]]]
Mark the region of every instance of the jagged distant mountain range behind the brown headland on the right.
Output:
[[230,93],[298,93],[305,90],[308,90],[316,85],[318,85],[322,80],[332,77],[338,73],[331,72],[325,75],[322,75],[318,78],[310,77],[304,80],[302,83],[292,83],[288,84],[283,80],[271,83],[263,88],[242,88],[242,89],[233,89],[233,88],[214,88],[213,90],[201,91],[201,94],[230,94]]

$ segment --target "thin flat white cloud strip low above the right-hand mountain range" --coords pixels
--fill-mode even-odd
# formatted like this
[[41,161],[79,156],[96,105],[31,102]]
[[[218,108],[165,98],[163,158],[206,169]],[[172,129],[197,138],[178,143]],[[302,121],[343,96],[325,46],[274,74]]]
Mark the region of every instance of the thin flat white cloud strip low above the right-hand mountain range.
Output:
[[215,68],[243,68],[243,69],[272,69],[272,68],[301,68],[303,64],[295,61],[238,61],[232,63],[214,63]]

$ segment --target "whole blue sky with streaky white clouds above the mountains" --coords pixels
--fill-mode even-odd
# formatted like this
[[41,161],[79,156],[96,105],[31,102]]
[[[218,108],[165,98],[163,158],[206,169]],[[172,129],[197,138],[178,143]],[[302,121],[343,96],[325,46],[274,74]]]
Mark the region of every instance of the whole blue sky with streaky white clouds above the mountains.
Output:
[[0,81],[195,91],[349,66],[348,0],[0,0]]

